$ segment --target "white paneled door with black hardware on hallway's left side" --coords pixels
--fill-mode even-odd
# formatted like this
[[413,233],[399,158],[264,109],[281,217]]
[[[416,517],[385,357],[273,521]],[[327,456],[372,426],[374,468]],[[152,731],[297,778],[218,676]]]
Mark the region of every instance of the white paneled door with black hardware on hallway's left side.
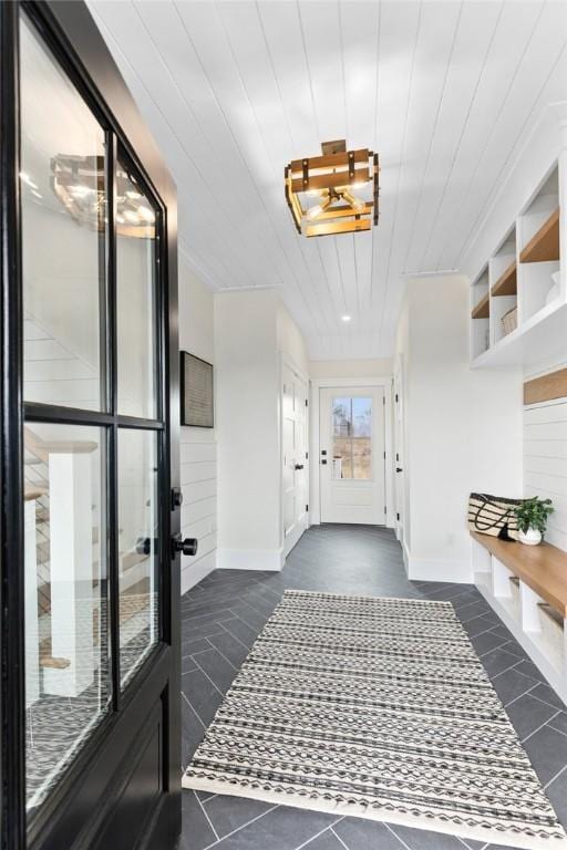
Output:
[[284,554],[288,554],[308,520],[308,386],[287,363],[281,377]]

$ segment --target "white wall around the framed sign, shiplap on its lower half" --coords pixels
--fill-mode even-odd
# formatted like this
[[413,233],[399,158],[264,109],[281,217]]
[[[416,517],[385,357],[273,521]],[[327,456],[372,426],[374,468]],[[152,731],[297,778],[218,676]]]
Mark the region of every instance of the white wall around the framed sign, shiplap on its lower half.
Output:
[[[179,257],[179,349],[215,362],[214,297]],[[199,541],[194,558],[182,556],[182,592],[216,567],[216,428],[181,429],[182,535]]]

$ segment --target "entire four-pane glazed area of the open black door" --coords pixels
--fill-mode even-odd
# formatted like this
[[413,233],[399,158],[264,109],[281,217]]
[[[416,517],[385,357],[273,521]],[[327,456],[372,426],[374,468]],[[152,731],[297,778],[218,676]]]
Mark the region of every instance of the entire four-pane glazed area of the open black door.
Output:
[[21,100],[32,822],[161,641],[168,450],[161,207],[25,17]]

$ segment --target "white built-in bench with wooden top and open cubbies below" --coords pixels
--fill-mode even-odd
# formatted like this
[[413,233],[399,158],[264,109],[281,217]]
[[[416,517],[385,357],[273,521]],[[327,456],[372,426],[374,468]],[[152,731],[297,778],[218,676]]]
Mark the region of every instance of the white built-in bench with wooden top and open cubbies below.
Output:
[[567,552],[471,536],[478,590],[567,702]]

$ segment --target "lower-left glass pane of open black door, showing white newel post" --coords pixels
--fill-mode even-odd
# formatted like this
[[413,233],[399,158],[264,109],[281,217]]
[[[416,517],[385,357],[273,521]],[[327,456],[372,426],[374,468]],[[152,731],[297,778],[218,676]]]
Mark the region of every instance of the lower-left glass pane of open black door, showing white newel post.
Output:
[[28,808],[37,809],[111,698],[100,428],[24,428]]

